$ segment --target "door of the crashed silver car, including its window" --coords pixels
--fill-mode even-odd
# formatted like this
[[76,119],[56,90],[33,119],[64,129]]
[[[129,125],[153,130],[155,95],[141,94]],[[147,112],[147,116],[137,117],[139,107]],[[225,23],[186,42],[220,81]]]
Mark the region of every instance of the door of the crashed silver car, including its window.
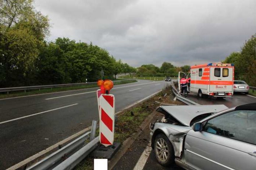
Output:
[[185,162],[198,170],[256,169],[256,111],[230,111],[203,122],[202,132],[190,130]]

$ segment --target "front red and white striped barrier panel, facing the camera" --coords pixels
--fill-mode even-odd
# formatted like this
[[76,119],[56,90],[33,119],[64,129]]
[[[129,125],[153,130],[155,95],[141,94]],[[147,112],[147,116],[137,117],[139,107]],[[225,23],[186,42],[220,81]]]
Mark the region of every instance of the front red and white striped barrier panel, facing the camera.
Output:
[[115,97],[102,94],[100,96],[100,143],[105,147],[114,142]]

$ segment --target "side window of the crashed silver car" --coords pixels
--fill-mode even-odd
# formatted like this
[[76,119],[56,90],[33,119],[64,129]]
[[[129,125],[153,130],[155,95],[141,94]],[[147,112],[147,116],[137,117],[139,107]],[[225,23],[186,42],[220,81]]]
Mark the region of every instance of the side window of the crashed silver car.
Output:
[[210,119],[203,131],[256,145],[256,111],[231,111]]

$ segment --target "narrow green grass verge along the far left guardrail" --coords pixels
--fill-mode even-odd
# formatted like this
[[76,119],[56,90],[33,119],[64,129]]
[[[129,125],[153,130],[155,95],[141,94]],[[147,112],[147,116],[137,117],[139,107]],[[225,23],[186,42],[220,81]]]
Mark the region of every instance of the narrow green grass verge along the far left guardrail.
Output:
[[[122,80],[122,79],[117,79]],[[127,81],[121,81],[121,82],[114,82],[114,85],[120,85],[120,84],[127,84],[136,82],[136,80],[127,80]],[[70,87],[58,87],[58,88],[46,88],[46,89],[33,89],[33,90],[26,90],[26,93],[24,90],[22,91],[14,91],[9,92],[9,95],[7,95],[7,92],[0,93],[0,99],[5,99],[9,97],[18,97],[18,96],[28,96],[28,95],[37,95],[37,94],[43,94],[43,93],[53,93],[53,92],[62,92],[67,90],[78,90],[78,89],[87,89],[87,88],[95,88],[97,87],[96,84],[93,85],[80,85],[80,86],[70,86]]]

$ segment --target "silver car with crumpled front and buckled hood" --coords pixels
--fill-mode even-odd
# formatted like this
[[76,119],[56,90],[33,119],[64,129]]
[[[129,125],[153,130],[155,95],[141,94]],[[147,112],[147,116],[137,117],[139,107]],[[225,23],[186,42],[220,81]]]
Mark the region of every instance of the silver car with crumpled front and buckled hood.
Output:
[[187,170],[256,169],[256,103],[160,106],[150,124],[151,143],[163,166]]

